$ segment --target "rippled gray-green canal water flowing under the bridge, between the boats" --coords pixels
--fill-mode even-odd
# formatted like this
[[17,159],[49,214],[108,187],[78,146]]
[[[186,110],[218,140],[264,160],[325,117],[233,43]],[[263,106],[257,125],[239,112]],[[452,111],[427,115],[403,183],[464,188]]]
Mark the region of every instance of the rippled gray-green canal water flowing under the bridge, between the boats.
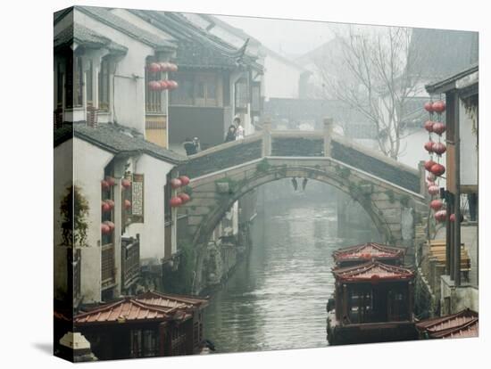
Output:
[[248,257],[206,308],[204,337],[217,352],[326,347],[332,251],[370,241],[372,230],[337,237],[336,201],[308,193],[262,208]]

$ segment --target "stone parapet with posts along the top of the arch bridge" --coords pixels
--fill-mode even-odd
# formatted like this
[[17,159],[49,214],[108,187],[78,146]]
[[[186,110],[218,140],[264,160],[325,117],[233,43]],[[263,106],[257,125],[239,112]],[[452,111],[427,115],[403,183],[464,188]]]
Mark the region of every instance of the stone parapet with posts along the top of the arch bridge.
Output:
[[204,176],[236,167],[262,157],[331,157],[345,164],[370,171],[388,182],[420,193],[420,171],[387,158],[360,143],[332,133],[332,120],[325,119],[324,130],[272,131],[270,122],[262,131],[244,139],[223,143],[189,157],[179,173],[190,177]]

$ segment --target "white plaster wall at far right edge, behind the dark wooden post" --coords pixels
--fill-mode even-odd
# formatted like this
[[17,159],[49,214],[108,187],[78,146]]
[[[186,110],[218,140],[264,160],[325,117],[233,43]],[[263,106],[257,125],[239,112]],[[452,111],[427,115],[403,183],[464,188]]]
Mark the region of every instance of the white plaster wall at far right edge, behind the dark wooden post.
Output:
[[[478,136],[472,133],[472,120],[460,102],[459,134],[461,136],[461,184],[478,184]],[[478,123],[476,123],[477,127]]]

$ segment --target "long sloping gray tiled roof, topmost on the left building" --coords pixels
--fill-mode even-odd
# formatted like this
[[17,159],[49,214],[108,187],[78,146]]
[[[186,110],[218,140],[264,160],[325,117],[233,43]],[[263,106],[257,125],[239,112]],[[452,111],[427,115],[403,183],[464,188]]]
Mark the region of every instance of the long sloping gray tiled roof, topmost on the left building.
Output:
[[113,29],[118,29],[122,33],[127,34],[129,37],[133,37],[138,41],[151,45],[156,48],[170,48],[175,49],[176,45],[170,41],[165,40],[162,37],[155,36],[153,33],[140,29],[133,23],[123,20],[121,17],[113,14],[106,8],[100,8],[95,6],[75,6],[79,12],[84,12],[88,16],[100,21],[102,23],[111,26]]

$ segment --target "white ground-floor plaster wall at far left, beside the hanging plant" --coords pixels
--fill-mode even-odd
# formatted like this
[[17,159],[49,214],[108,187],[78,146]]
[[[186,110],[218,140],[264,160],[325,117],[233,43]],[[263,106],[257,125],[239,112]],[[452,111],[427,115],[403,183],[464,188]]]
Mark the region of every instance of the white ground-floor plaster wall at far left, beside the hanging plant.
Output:
[[81,293],[84,302],[95,302],[101,299],[101,181],[112,154],[78,138],[73,140],[73,153],[74,183],[90,208],[88,246],[82,249]]

